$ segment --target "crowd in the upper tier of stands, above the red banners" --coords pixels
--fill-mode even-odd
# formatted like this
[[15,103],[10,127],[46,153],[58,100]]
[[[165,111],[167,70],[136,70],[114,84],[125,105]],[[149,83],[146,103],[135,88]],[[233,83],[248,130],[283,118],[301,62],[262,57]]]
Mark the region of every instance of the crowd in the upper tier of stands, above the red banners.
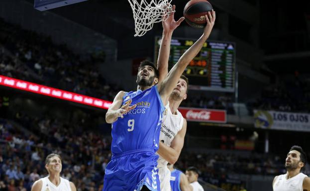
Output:
[[[0,18],[0,74],[67,91],[113,100],[119,91],[98,72],[98,58],[88,59],[74,54],[65,45],[56,45],[51,38],[5,22]],[[102,57],[100,58],[103,61]],[[310,111],[310,79],[298,71],[289,80],[279,80],[266,87],[261,98],[247,103],[253,109],[277,111]],[[208,97],[189,94],[184,107],[223,109],[235,114],[229,96]]]

